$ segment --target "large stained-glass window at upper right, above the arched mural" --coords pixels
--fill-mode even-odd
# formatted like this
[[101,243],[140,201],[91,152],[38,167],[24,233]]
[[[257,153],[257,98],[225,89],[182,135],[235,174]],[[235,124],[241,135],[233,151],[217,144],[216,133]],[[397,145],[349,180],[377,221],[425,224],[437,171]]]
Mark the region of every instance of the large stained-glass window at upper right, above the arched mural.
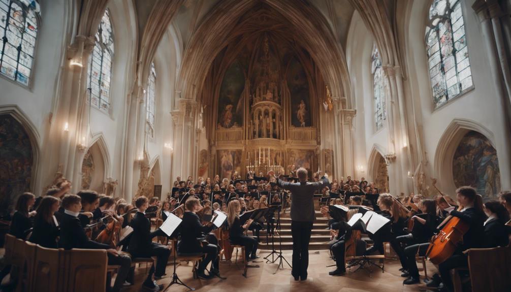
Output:
[[474,87],[459,0],[435,0],[429,9],[426,50],[435,108]]

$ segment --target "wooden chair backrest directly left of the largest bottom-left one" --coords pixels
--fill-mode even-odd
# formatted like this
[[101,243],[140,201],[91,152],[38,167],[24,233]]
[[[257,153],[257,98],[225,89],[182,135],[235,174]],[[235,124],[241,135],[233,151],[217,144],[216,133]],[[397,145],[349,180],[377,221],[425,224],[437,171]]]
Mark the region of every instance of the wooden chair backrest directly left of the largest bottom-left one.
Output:
[[47,249],[39,245],[36,247],[34,275],[30,284],[32,291],[62,291],[65,270],[65,262],[60,255],[62,251],[63,249]]

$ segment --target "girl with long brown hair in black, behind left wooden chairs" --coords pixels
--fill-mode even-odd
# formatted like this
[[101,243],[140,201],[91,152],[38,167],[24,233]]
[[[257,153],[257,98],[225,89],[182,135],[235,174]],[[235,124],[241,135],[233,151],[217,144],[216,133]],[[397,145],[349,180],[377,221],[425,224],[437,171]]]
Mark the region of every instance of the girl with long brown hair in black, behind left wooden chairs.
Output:
[[42,198],[34,216],[34,230],[29,241],[41,247],[58,248],[57,237],[59,236],[59,224],[55,212],[60,207],[60,199],[52,196]]

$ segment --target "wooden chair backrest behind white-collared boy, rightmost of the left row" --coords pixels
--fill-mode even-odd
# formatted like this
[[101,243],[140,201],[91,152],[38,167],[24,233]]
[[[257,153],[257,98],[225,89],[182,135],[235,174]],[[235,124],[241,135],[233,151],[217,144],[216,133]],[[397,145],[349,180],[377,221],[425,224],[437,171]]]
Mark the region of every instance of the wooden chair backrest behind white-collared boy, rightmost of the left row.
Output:
[[63,253],[68,267],[64,291],[105,291],[106,250],[72,249]]

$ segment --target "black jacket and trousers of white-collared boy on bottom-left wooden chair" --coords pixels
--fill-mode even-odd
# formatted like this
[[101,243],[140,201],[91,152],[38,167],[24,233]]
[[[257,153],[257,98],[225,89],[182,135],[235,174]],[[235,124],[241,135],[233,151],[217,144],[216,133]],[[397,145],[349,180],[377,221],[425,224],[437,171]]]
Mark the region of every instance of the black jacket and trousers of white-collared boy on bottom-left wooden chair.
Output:
[[[110,249],[109,245],[88,239],[78,217],[64,213],[60,221],[59,246],[66,249]],[[107,254],[108,264],[120,265],[112,291],[120,291],[131,267],[131,258],[125,255]],[[107,282],[109,286],[109,282]]]

